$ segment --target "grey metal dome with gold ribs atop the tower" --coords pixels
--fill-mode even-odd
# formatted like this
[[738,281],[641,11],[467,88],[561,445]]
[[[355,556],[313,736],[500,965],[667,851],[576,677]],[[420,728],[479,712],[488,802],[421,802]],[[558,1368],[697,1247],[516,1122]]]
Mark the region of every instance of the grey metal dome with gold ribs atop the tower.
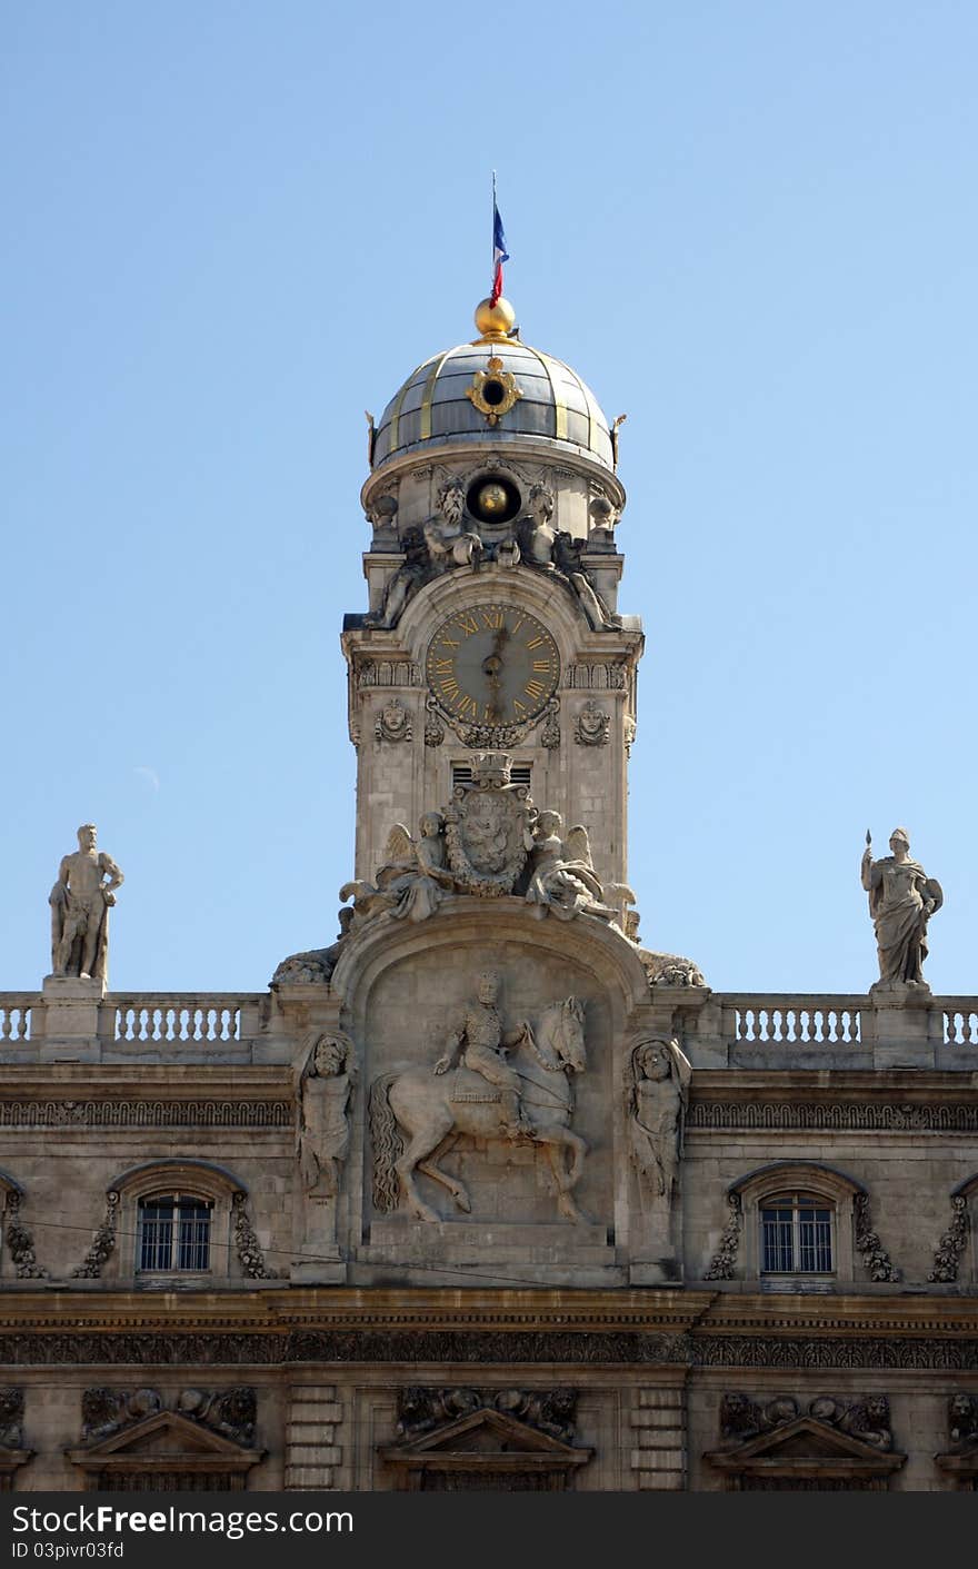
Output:
[[[492,367],[491,358],[495,358]],[[489,380],[498,378],[503,386],[513,377],[519,392],[511,405],[505,399],[505,410],[498,403],[494,420],[469,395],[478,386],[480,372]],[[484,384],[491,394],[489,381]],[[608,420],[580,377],[539,348],[487,333],[473,344],[433,355],[411,372],[379,419],[373,469],[376,472],[389,458],[418,452],[429,441],[469,446],[486,436],[505,447],[527,438],[553,442],[608,469],[614,466]]]

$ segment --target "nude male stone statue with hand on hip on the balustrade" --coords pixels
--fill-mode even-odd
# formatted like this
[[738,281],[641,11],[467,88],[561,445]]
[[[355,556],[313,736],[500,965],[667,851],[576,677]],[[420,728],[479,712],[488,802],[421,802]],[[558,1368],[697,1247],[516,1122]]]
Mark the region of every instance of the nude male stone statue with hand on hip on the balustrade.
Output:
[[94,822],[83,822],[78,849],[63,858],[47,901],[52,907],[53,974],[105,981],[108,907],[116,902],[116,888],[122,882],[111,855],[96,849]]

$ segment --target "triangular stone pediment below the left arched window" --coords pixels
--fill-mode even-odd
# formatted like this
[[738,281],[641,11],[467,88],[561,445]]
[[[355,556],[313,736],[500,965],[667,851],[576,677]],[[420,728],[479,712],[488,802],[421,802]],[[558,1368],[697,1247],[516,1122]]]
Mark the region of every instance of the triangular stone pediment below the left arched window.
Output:
[[243,1448],[179,1411],[157,1411],[122,1432],[66,1453],[89,1476],[141,1475],[149,1489],[154,1473],[160,1472],[238,1475],[243,1480],[265,1454]]

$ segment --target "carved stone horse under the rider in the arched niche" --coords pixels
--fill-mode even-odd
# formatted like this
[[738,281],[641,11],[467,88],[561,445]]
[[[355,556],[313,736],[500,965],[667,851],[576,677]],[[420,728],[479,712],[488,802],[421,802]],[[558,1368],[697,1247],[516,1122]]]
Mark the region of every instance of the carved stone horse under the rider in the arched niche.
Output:
[[[586,1067],[581,1003],[569,996],[544,1009],[536,1028],[527,1026],[509,1065],[520,1076],[522,1112],[531,1130],[527,1136],[547,1153],[558,1211],[567,1221],[585,1221],[574,1200],[574,1188],[588,1145],[569,1127],[574,1114],[570,1075],[583,1073]],[[498,1097],[500,1092],[484,1078],[464,1067],[440,1078],[429,1067],[417,1067],[375,1079],[370,1090],[375,1207],[390,1213],[403,1196],[415,1219],[440,1221],[417,1189],[414,1175],[420,1170],[447,1188],[456,1207],[469,1214],[472,1203],[465,1188],[444,1172],[437,1159],[459,1133],[476,1139],[508,1138],[500,1125]]]

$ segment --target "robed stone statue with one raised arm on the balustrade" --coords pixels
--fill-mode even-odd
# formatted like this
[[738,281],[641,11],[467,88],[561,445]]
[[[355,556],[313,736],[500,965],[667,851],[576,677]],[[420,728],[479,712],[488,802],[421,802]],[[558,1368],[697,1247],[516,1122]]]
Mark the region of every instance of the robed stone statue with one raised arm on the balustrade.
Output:
[[920,861],[911,858],[911,836],[906,828],[893,828],[892,855],[875,861],[871,846],[873,841],[867,833],[860,876],[862,886],[870,896],[870,915],[876,929],[879,954],[876,987],[884,990],[900,985],[926,987],[922,965],[928,954],[928,921],[944,904],[940,883],[926,876]]

